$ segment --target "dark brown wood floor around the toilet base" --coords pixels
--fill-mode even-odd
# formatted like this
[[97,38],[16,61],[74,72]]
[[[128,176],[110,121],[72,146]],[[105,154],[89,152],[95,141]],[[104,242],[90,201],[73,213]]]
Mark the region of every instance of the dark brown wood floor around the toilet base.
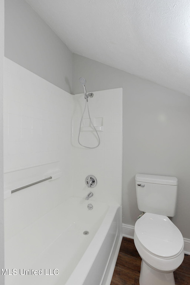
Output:
[[[139,285],[141,258],[134,240],[123,238],[110,285]],[[176,285],[190,285],[190,255],[174,272]]]

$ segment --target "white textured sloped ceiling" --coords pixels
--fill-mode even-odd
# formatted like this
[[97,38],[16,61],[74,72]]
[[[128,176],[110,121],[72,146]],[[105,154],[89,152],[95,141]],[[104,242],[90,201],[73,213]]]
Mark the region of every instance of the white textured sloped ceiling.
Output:
[[190,0],[26,0],[69,49],[190,96]]

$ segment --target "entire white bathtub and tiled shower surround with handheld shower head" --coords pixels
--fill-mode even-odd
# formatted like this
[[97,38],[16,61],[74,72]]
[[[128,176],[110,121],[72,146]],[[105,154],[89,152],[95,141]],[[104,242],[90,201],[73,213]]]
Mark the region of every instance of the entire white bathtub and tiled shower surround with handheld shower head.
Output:
[[[23,87],[16,83],[21,77],[25,88],[29,84],[27,92],[30,92],[34,80],[35,92],[28,98],[34,96],[36,102],[41,99],[42,109],[41,119],[31,116],[31,121],[42,126],[48,120],[49,136],[45,143],[54,148],[52,142],[56,139],[57,142],[61,139],[61,143],[57,143],[60,148],[56,151],[46,153],[43,142],[46,130],[41,130],[44,147],[41,152],[27,154],[32,160],[28,164],[23,160],[19,167],[16,160],[5,164],[5,268],[9,269],[5,284],[109,285],[122,240],[122,89],[87,94],[86,80],[80,78],[84,94],[70,95],[12,61],[8,63],[13,77],[10,90],[23,92]],[[15,97],[8,98],[8,104],[13,100],[15,106],[28,104],[30,107],[26,102],[27,92],[16,103]],[[49,111],[45,110],[46,106]],[[34,106],[35,112],[40,110],[37,108]],[[42,118],[47,113],[50,118]],[[68,118],[71,128],[65,126]],[[7,128],[18,129],[18,126],[14,123]],[[59,135],[62,128],[64,132]],[[37,137],[37,132],[34,134]],[[71,134],[72,142],[69,141]],[[66,148],[64,152],[62,145]],[[21,157],[25,157],[24,152],[11,155],[19,162]],[[44,161],[37,161],[39,157]],[[10,161],[9,153],[5,154],[6,159]]]

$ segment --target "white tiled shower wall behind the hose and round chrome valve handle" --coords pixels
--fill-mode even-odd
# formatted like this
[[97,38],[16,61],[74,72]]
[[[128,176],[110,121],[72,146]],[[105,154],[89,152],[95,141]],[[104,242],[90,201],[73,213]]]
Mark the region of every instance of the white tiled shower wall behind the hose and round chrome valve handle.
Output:
[[[80,119],[85,107],[84,94],[75,95],[73,115],[73,194],[85,197],[89,191],[94,193],[93,200],[122,203],[122,88],[96,91],[89,98],[92,122],[100,137],[98,148],[81,147],[78,142]],[[94,147],[98,140],[95,132],[89,130],[86,108],[81,124],[80,143]],[[96,188],[89,189],[85,177],[89,174],[97,178]],[[90,201],[90,200],[89,200]]]

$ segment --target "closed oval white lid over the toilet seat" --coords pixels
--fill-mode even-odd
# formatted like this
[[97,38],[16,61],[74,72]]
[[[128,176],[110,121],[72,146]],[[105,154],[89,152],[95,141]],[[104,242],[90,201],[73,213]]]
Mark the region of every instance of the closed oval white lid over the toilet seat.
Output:
[[166,216],[145,213],[134,229],[142,246],[153,255],[172,257],[183,248],[181,232]]

